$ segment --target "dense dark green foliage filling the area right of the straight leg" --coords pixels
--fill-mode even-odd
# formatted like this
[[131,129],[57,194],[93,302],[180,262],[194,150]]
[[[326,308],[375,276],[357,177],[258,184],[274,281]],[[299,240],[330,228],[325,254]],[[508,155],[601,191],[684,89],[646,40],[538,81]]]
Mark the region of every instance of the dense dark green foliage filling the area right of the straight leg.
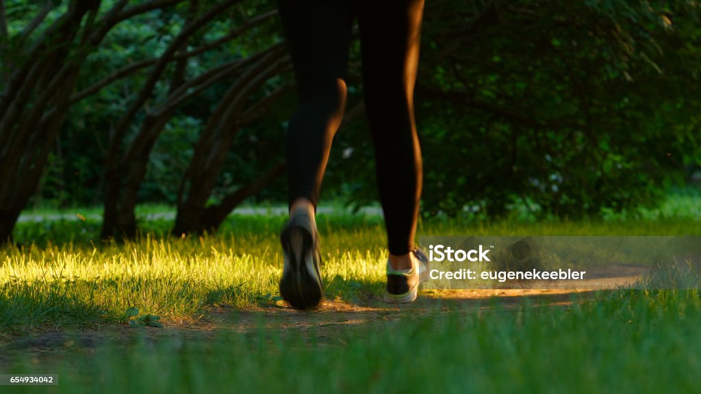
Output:
[[[651,207],[700,163],[695,2],[427,7],[415,98],[426,215]],[[362,128],[339,133],[329,171],[355,203],[376,196]]]

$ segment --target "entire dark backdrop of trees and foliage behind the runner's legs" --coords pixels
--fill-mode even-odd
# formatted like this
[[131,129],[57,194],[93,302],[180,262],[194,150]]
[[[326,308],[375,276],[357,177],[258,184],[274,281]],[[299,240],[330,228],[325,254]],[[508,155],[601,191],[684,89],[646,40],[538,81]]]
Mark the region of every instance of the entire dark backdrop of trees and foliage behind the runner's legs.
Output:
[[[701,165],[701,2],[428,0],[416,119],[426,215],[654,206]],[[285,201],[294,79],[275,2],[0,0],[0,238],[32,205],[139,203],[173,231]],[[323,190],[376,200],[351,49]]]

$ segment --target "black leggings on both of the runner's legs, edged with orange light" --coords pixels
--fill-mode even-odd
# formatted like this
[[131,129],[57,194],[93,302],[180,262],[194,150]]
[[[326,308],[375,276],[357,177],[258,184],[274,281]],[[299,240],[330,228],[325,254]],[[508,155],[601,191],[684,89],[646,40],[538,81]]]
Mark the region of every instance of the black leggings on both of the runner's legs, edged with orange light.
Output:
[[423,0],[278,0],[292,54],[299,108],[287,130],[290,204],[316,208],[331,143],[346,107],[346,72],[358,17],[365,109],[375,149],[389,250],[414,248],[421,151],[414,81]]

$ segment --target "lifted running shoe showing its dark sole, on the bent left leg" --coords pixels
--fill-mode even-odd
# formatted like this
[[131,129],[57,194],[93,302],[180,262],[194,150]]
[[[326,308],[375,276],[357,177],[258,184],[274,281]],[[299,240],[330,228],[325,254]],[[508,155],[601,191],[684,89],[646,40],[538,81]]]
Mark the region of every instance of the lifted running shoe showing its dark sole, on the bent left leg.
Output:
[[292,308],[315,308],[321,301],[322,282],[319,235],[314,219],[306,213],[293,212],[280,233],[280,243],[285,255],[280,295]]

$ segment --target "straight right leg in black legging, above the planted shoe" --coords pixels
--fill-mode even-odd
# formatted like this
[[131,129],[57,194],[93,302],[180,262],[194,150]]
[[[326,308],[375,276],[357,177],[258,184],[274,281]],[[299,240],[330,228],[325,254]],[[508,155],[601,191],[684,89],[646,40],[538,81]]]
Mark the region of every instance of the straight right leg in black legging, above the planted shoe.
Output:
[[421,198],[413,95],[423,0],[360,0],[359,4],[365,107],[390,261],[392,255],[406,255],[409,261]]

